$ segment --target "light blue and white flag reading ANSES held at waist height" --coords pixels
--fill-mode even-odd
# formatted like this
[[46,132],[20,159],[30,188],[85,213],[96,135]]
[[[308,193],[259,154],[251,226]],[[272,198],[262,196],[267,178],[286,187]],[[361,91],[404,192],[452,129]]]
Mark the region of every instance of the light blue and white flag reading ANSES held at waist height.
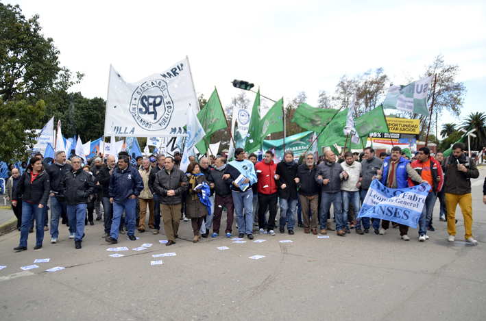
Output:
[[386,188],[378,179],[372,181],[358,218],[379,218],[417,228],[430,185],[413,188]]

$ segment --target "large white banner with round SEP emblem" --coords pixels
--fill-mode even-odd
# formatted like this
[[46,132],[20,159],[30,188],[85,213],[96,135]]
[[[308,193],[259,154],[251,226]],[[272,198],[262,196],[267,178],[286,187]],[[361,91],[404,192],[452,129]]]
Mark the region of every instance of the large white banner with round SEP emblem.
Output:
[[105,136],[112,134],[112,124],[116,136],[184,136],[189,108],[199,112],[187,57],[134,83],[110,65]]

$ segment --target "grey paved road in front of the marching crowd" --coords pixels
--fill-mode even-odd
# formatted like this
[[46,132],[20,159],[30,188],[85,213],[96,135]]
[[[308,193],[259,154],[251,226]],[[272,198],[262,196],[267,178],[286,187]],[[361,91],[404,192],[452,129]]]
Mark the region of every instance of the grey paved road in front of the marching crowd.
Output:
[[[473,180],[478,246],[461,241],[459,210],[459,241],[444,241],[437,206],[436,231],[423,243],[415,229],[404,242],[398,229],[318,239],[296,228],[295,235],[256,235],[262,243],[217,237],[193,244],[190,222],[181,222],[185,240],[165,246],[158,242],[163,234],[136,232],[135,242],[120,237],[118,246],[130,251],[114,258],[99,222],[86,227],[81,250],[63,227],[58,244],[46,235],[42,250],[32,251],[30,234],[29,251],[14,253],[19,232],[13,231],[0,237],[0,265],[7,266],[0,270],[0,320],[485,320],[486,170],[480,172]],[[132,251],[143,243],[153,245]],[[172,252],[151,266],[151,255]],[[20,269],[45,258],[40,268]],[[55,266],[65,269],[45,272]]]

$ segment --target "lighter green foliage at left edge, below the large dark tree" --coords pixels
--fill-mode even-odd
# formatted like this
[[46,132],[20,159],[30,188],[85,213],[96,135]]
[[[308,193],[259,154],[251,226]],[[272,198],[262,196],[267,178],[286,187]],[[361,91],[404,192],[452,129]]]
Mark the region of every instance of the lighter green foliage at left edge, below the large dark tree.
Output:
[[44,116],[44,101],[30,105],[27,101],[7,101],[0,104],[0,155],[5,162],[26,160],[28,149],[34,146],[37,134],[34,129],[40,126],[39,119]]

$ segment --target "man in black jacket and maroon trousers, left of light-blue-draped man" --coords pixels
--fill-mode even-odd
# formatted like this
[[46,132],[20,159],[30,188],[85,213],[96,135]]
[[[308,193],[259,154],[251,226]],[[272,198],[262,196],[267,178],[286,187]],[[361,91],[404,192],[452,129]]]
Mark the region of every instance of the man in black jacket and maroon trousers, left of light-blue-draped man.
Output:
[[231,237],[233,225],[233,197],[231,188],[223,179],[224,170],[226,169],[226,158],[217,157],[215,168],[211,170],[208,182],[211,190],[215,191],[214,218],[212,218],[212,237],[219,236],[219,227],[221,226],[221,214],[226,205],[226,237]]

